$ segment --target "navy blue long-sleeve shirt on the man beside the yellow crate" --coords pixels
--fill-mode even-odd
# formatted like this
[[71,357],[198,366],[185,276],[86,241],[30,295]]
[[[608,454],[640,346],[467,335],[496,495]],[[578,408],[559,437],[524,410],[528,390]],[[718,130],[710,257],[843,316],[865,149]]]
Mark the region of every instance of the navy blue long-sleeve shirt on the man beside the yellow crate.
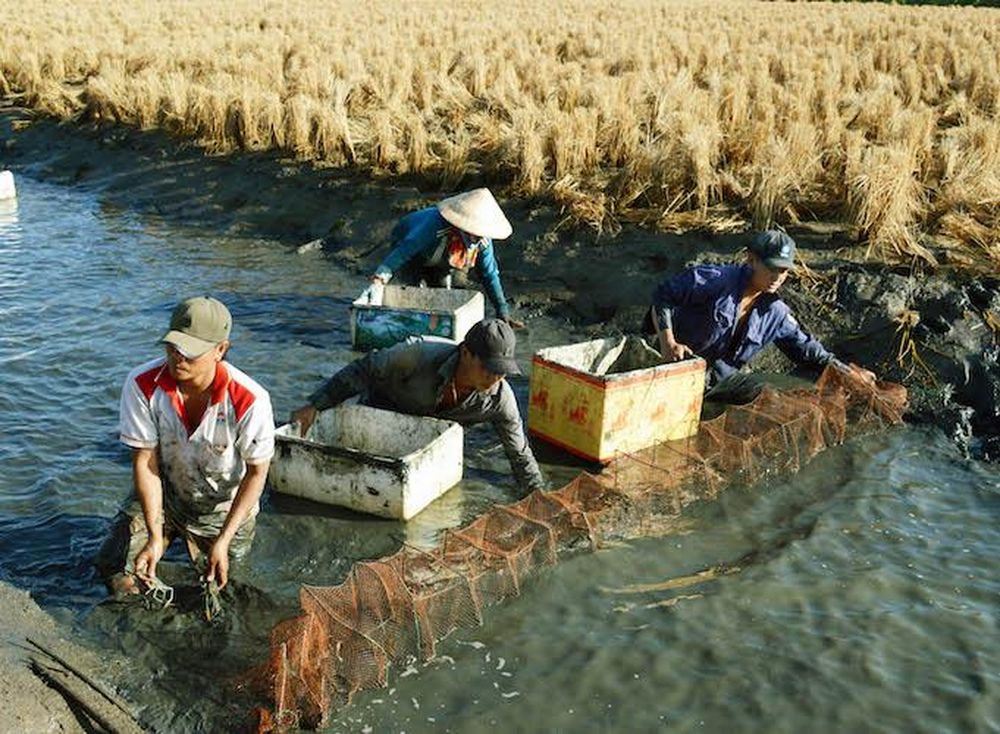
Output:
[[653,294],[660,328],[672,328],[674,339],[705,359],[717,379],[736,372],[771,342],[799,364],[821,366],[835,359],[773,293],[757,297],[739,329],[740,299],[751,272],[749,265],[698,265],[663,281]]

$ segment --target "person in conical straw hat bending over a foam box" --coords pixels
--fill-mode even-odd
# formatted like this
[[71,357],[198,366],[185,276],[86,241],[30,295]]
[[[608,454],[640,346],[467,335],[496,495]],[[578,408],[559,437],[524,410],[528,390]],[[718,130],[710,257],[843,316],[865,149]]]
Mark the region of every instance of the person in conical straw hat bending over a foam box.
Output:
[[520,328],[510,315],[500,283],[493,240],[512,232],[489,189],[474,189],[411,212],[392,231],[392,252],[379,264],[373,282],[393,277],[403,285],[464,286],[470,270],[482,284],[497,317]]

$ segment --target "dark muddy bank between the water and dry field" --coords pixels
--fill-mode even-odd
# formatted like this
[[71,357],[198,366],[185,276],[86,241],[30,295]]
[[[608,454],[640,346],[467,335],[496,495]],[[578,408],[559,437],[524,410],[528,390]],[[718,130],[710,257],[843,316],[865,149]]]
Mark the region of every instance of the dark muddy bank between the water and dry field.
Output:
[[[360,179],[270,154],[210,157],[159,133],[60,125],[10,108],[0,110],[0,141],[0,166],[91,188],[105,206],[271,237],[293,252],[321,240],[331,261],[359,272],[374,269],[402,213],[442,196],[405,179]],[[595,335],[634,331],[657,282],[693,262],[740,258],[746,243],[745,234],[629,227],[602,237],[569,227],[544,202],[503,205],[515,232],[499,245],[504,283],[529,328],[544,313]],[[841,358],[906,384],[912,420],[1000,458],[1000,280],[866,263],[843,226],[791,233],[808,269],[783,295],[806,328]],[[947,262],[946,251],[938,254]],[[791,365],[770,349],[755,367]]]

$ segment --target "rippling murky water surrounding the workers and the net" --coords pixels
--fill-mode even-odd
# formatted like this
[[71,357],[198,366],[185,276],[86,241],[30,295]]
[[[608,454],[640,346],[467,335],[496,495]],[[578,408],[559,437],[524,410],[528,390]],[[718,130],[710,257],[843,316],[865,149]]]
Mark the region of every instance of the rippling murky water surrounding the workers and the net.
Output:
[[[262,662],[300,583],[336,583],[355,560],[516,498],[492,434],[471,431],[465,480],[409,524],[267,497],[219,626],[199,619],[177,549],[164,571],[176,609],[107,603],[91,559],[130,491],[118,394],[158,353],[173,303],[212,293],[230,306],[231,359],[284,416],[352,358],[347,304],[363,279],[321,252],[18,185],[0,204],[0,578],[68,633],[128,655],[113,682],[151,728],[245,721],[254,701],[231,682]],[[519,360],[580,336],[533,318]],[[523,406],[526,380],[514,386]],[[556,484],[578,469],[539,453]],[[995,467],[940,434],[854,441],[693,508],[675,535],[546,570],[331,730],[995,731],[998,513]]]

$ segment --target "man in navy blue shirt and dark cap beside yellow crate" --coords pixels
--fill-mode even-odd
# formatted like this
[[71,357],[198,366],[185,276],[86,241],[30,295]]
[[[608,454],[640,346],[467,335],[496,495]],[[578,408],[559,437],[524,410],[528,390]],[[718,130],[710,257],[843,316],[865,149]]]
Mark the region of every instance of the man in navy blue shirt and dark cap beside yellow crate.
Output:
[[873,381],[874,374],[845,365],[804,331],[778,297],[795,264],[795,240],[768,230],[755,234],[747,249],[745,264],[698,265],[656,288],[647,326],[658,335],[663,357],[703,358],[709,365],[705,398],[732,404],[760,394],[763,381],[741,369],[772,342],[797,364],[833,364]]

